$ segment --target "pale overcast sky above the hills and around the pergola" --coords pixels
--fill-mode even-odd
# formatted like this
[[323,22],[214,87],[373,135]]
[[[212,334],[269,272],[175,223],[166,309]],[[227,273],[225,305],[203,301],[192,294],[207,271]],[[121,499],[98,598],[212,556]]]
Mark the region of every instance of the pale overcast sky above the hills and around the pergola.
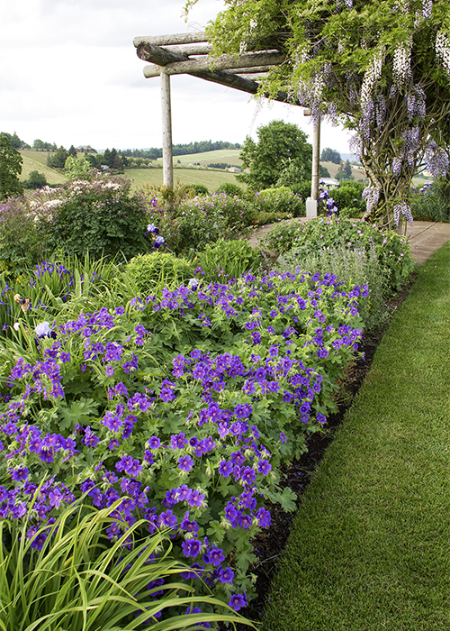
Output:
[[[222,0],[0,0],[0,132],[67,149],[161,147],[159,78],[144,78],[133,38],[202,31]],[[311,135],[302,108],[269,103],[199,78],[171,78],[173,142],[244,142],[275,119]],[[321,147],[349,134],[322,124]]]

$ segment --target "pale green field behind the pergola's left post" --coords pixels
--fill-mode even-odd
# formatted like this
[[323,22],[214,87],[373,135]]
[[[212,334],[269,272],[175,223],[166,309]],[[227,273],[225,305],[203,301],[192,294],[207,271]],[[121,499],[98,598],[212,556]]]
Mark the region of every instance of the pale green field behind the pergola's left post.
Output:
[[[144,184],[162,185],[163,169],[125,169],[125,177],[133,181],[133,187],[139,188]],[[203,170],[203,169],[174,169],[174,184],[202,184],[212,193],[220,184],[231,182],[239,184],[234,173],[220,169]]]

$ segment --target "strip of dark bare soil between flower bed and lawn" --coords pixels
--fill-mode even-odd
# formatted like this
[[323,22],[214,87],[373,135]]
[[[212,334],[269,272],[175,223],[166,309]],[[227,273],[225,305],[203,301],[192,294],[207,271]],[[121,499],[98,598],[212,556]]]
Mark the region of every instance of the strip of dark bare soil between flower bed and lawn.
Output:
[[[284,486],[293,489],[297,495],[297,501],[300,501],[302,493],[308,487],[311,473],[319,465],[325,449],[332,441],[336,429],[365,380],[365,376],[371,368],[376,347],[389,326],[392,313],[408,296],[415,279],[414,276],[410,283],[403,287],[392,300],[386,302],[385,308],[389,314],[386,324],[373,334],[365,334],[364,342],[359,347],[359,350],[365,353],[365,360],[355,361],[347,370],[345,383],[342,384],[342,396],[338,401],[338,412],[328,417],[326,433],[313,434],[308,442],[308,451],[303,453],[299,460],[284,468]],[[272,515],[271,526],[261,531],[254,540],[258,560],[250,567],[250,572],[257,575],[257,598],[253,599],[247,608],[239,611],[239,614],[255,622],[261,621],[264,616],[270,583],[275,575],[276,563],[286,543],[289,525],[293,519],[293,514],[284,512],[279,505],[272,505],[270,512]],[[238,631],[247,631],[248,628],[244,625],[237,626]]]

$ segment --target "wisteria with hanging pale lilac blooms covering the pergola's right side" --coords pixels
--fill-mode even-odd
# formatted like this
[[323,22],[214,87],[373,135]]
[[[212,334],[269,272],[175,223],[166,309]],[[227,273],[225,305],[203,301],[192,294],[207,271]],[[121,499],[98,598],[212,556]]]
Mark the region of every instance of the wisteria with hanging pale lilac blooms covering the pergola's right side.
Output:
[[[195,4],[196,0],[188,5]],[[227,0],[207,31],[213,54],[276,48],[285,55],[261,94],[284,89],[313,117],[354,130],[369,178],[366,215],[410,218],[422,161],[445,175],[450,154],[447,0]]]

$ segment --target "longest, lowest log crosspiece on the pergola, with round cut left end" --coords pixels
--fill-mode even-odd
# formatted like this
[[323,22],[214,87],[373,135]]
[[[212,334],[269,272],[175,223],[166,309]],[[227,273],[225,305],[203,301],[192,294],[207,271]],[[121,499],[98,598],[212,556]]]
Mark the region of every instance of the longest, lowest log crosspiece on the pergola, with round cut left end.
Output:
[[[175,54],[175,53],[170,53]],[[235,68],[253,68],[259,66],[278,66],[283,63],[284,55],[279,52],[255,52],[247,55],[220,55],[220,57],[205,59],[177,60],[164,64],[168,75],[183,75],[203,70],[230,70]],[[144,67],[144,77],[157,77],[159,70],[155,65]]]

